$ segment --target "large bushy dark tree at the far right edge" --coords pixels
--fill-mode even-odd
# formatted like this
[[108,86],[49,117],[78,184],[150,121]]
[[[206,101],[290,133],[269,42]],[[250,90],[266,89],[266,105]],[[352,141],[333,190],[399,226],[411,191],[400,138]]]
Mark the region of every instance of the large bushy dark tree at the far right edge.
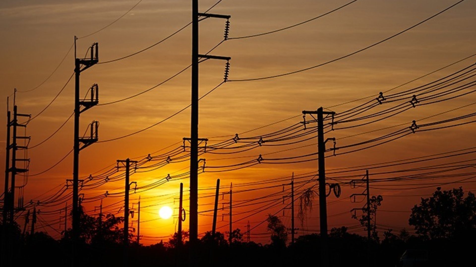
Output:
[[424,238],[453,238],[476,229],[476,198],[472,192],[464,197],[463,189],[441,191],[436,188],[433,196],[422,198],[412,208],[408,220],[417,234]]

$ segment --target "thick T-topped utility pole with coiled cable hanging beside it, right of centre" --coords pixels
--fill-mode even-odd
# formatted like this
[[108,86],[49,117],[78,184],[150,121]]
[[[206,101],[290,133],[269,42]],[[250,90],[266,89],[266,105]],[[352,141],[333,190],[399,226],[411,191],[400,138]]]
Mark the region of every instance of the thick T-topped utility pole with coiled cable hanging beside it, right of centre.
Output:
[[329,266],[328,258],[328,244],[327,244],[327,201],[326,201],[326,142],[332,138],[324,141],[324,115],[336,114],[335,112],[324,111],[319,107],[317,111],[306,111],[303,114],[317,114],[317,155],[318,155],[318,173],[319,173],[319,220],[321,232],[321,266]]

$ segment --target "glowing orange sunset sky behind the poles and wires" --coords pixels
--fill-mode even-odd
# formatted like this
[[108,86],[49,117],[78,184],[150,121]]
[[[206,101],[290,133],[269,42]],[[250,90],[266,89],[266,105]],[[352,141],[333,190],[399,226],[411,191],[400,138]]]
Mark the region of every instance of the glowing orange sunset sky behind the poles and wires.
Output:
[[[0,80],[1,95],[5,97],[1,107],[6,110],[6,97],[10,95],[10,108],[14,88],[16,104],[20,113],[35,116],[48,105],[53,97],[68,81],[74,70],[74,36],[83,37],[93,33],[114,20],[118,19],[134,6],[137,0],[100,0],[100,1],[60,1],[60,0],[4,0],[0,3]],[[204,12],[216,0],[200,0],[200,12]],[[268,32],[284,28],[307,19],[317,17],[330,10],[336,9],[351,0],[222,0],[209,12],[231,15],[229,37],[241,37]],[[292,72],[307,67],[312,67],[329,60],[345,56],[359,49],[365,48],[380,40],[388,38],[418,22],[427,19],[441,10],[456,3],[457,0],[357,0],[348,6],[337,10],[322,18],[313,20],[292,29],[283,30],[269,35],[230,39],[223,42],[210,54],[231,57],[230,75],[232,80],[218,87],[207,95],[199,104],[199,137],[210,138],[208,144],[218,143],[232,138],[236,133],[243,133],[257,127],[278,122],[290,117],[292,119],[258,129],[240,137],[260,136],[269,134],[302,121],[302,110],[316,110],[318,107],[330,107],[372,95],[376,98],[379,92],[387,91],[401,84],[407,83],[417,77],[445,67],[460,59],[476,53],[476,2],[466,0],[433,19],[411,29],[395,38],[387,40],[373,48],[357,53],[356,55],[338,60],[328,65],[313,68],[297,74],[271,78],[259,81],[233,81],[239,79],[274,76]],[[119,57],[124,57],[147,48],[154,43],[166,38],[191,21],[191,1],[185,0],[142,0],[134,9],[106,29],[91,36],[79,38],[77,41],[78,57],[86,53],[93,42],[99,43],[99,62],[106,62]],[[205,19],[200,22],[200,48],[205,54],[223,39],[225,20]],[[67,52],[69,53],[67,54]],[[155,86],[173,76],[190,64],[191,52],[191,27],[180,31],[175,36],[135,56],[119,61],[98,64],[81,73],[81,94],[85,95],[88,88],[97,83],[99,85],[99,103],[108,103],[131,95],[135,95]],[[55,70],[63,57],[66,58],[58,70],[40,87],[30,92],[42,83]],[[475,63],[475,57],[469,57],[451,67],[447,67],[434,74],[418,79],[410,84],[399,87],[392,93],[402,92],[450,75],[458,70]],[[200,63],[200,94],[223,81],[225,62],[208,60]],[[465,82],[475,81],[471,76]],[[471,92],[475,87],[464,92]],[[390,94],[390,93],[388,93]],[[385,94],[384,94],[385,95]],[[361,100],[346,105],[330,108],[337,114],[354,106],[363,104],[372,98]],[[402,103],[410,101],[411,97]],[[421,122],[431,123],[475,112],[475,93],[457,97],[451,100],[417,106],[406,112],[383,119],[373,124],[363,125],[350,129],[336,130],[327,133],[327,137],[336,137],[337,146],[363,142],[368,139],[394,132],[398,129],[409,127],[413,120],[435,115],[438,113],[457,110],[428,118]],[[92,120],[99,121],[99,141],[114,139],[146,128],[152,124],[174,114],[190,104],[190,69],[171,79],[167,83],[150,90],[137,97],[116,104],[100,105],[93,107],[81,114],[80,133],[86,130]],[[466,107],[463,107],[468,105]],[[394,106],[377,107],[384,110]],[[30,147],[40,143],[55,132],[63,124],[74,109],[74,78],[65,87],[59,97],[37,118],[32,120],[27,127],[27,135],[31,136]],[[372,110],[375,111],[375,110]],[[6,113],[0,116],[2,125],[6,125]],[[311,118],[307,116],[307,120]],[[459,122],[469,122],[468,118]],[[396,128],[370,132],[381,128],[402,124]],[[337,124],[338,125],[338,124]],[[337,128],[337,126],[336,126]],[[474,133],[475,124],[465,124],[458,127],[440,129],[431,132],[410,134],[404,138],[356,153],[348,153],[326,160],[327,172],[342,167],[390,162],[408,158],[420,157],[436,153],[445,153],[476,146]],[[367,133],[370,132],[370,133]],[[23,130],[20,131],[23,134]],[[361,134],[367,133],[367,134]],[[5,130],[0,131],[0,142],[5,144]],[[343,138],[354,134],[361,134]],[[168,147],[169,151],[182,145],[183,137],[190,135],[190,110],[174,116],[173,118],[154,126],[139,134],[115,141],[95,143],[80,153],[79,175],[89,176],[98,172],[118,159],[144,158],[144,155],[154,153]],[[229,136],[228,136],[229,135]],[[307,137],[312,135],[307,135]],[[341,140],[339,140],[341,139]],[[306,142],[286,146],[263,146],[238,154],[204,154],[200,158],[207,159],[207,166],[233,165],[239,162],[257,159],[259,154],[272,153],[289,148],[286,152],[271,154],[268,157],[284,158],[304,155],[317,151],[317,139],[311,138]],[[328,148],[332,147],[328,143]],[[306,147],[297,148],[298,146]],[[45,143],[30,149],[28,157],[31,159],[30,174],[42,172],[60,161],[73,146],[73,120],[72,118],[60,131]],[[330,155],[332,152],[329,153]],[[153,156],[154,154],[152,154]],[[233,158],[232,157],[249,158]],[[227,158],[224,160],[218,159]],[[266,158],[266,156],[263,156]],[[315,156],[317,158],[317,156]],[[5,161],[5,150],[0,154],[2,162]],[[138,159],[138,160],[139,160]],[[410,164],[411,168],[443,164],[468,160],[475,163],[474,156],[465,156],[442,159],[438,161]],[[215,160],[215,161],[214,161]],[[266,160],[264,161],[266,162]],[[467,162],[466,162],[467,163]],[[170,163],[163,168],[150,172],[135,173],[131,181],[137,181],[138,187],[165,178],[167,174],[183,173],[188,171],[188,162]],[[476,164],[476,163],[475,163]],[[29,177],[25,186],[25,205],[30,200],[41,200],[60,190],[66,179],[72,179],[72,154],[48,172]],[[201,165],[201,163],[200,163]],[[384,171],[397,171],[410,166],[395,166]],[[476,166],[476,165],[475,165]],[[108,168],[109,169],[109,168]],[[262,181],[279,177],[295,175],[304,176],[308,172],[317,172],[317,161],[290,164],[257,164],[255,166],[230,172],[207,172],[198,177],[199,188],[212,188],[216,179],[221,179],[221,193],[228,192],[230,182],[234,185],[245,182]],[[372,177],[371,179],[392,177],[399,175],[388,174]],[[472,172],[463,169],[456,172]],[[100,173],[100,172],[99,172]],[[365,171],[355,172],[365,174]],[[353,173],[353,174],[355,174]],[[412,173],[411,173],[412,174]],[[413,173],[415,174],[415,173]],[[329,174],[329,177],[332,175]],[[382,206],[377,213],[377,223],[400,229],[408,226],[408,216],[413,205],[419,202],[419,196],[426,196],[435,191],[436,183],[454,182],[466,177],[454,177],[443,180],[423,181],[390,181],[378,183],[371,189],[371,195],[384,196]],[[309,178],[307,178],[309,179]],[[0,179],[3,189],[3,179]],[[23,178],[17,179],[21,185]],[[290,181],[290,180],[289,180]],[[289,182],[288,181],[288,182]],[[307,181],[301,179],[299,181]],[[468,179],[464,183],[443,185],[449,189],[463,186],[465,191],[476,189],[474,181]],[[185,209],[188,210],[188,179],[173,179],[163,185],[141,192],[131,194],[131,203],[137,202],[141,197],[141,235],[142,242],[152,244],[160,239],[168,240],[175,231],[174,219],[158,219],[158,211],[163,205],[174,208],[175,215],[178,209],[179,183],[184,183]],[[317,181],[312,181],[311,184]],[[282,192],[279,181],[272,184],[253,185],[243,189],[273,185],[276,187],[233,194],[233,200],[238,203],[245,200],[256,199],[275,192]],[[391,186],[398,184],[398,186]],[[411,190],[411,187],[422,187],[430,183],[427,188]],[[433,183],[433,184],[431,184]],[[390,186],[389,186],[390,185]],[[109,193],[123,190],[124,181],[106,183],[91,190],[83,190],[85,198],[98,196],[105,191]],[[384,188],[384,189],[382,189]],[[237,188],[236,190],[240,190]],[[289,189],[286,186],[285,189]],[[317,190],[317,186],[315,187]],[[48,191],[48,192],[47,192]],[[69,192],[70,189],[67,191]],[[214,190],[199,191],[200,196],[213,194]],[[342,186],[342,195],[339,199],[331,195],[328,197],[327,213],[329,215],[329,229],[337,226],[355,226],[358,221],[350,217],[350,209],[360,208],[362,203],[351,203],[349,196],[361,193],[361,189],[352,189]],[[18,194],[18,190],[16,191]],[[288,196],[280,194],[277,198]],[[103,205],[108,205],[122,200],[120,197],[108,197],[103,200]],[[228,195],[220,197],[220,205],[226,204]],[[339,200],[330,204],[333,201]],[[241,201],[241,202],[240,202]],[[255,200],[259,202],[263,200]],[[213,208],[213,198],[199,199],[199,210],[206,211]],[[268,213],[274,214],[285,205],[279,204],[272,208],[263,208],[267,203],[258,203],[253,206],[244,206],[233,210],[233,220],[238,220],[251,215],[249,218],[233,224],[233,228],[246,231],[249,220],[251,228],[266,219]],[[68,200],[71,204],[71,200]],[[235,202],[234,202],[235,205]],[[296,200],[296,207],[299,201]],[[65,204],[57,206],[38,207],[42,212],[54,211],[64,208]],[[89,214],[97,214],[94,207],[99,206],[99,200],[85,204]],[[132,204],[131,204],[132,207]],[[115,205],[107,212],[116,214],[120,206]],[[136,208],[136,205],[134,205]],[[256,209],[256,210],[255,210]],[[251,211],[254,210],[254,211]],[[298,210],[298,208],[296,208]],[[260,211],[260,212],[257,212]],[[313,210],[307,214],[304,225],[301,226],[297,219],[298,234],[318,232],[317,196]],[[228,223],[225,216],[221,221],[221,214],[227,210],[219,211],[218,227]],[[254,214],[256,213],[256,214]],[[24,214],[24,213],[23,213]],[[199,233],[211,230],[213,213],[204,212],[198,217]],[[254,214],[254,215],[252,215]],[[296,211],[297,214],[297,211]],[[62,214],[64,215],[64,214]],[[123,215],[120,211],[118,216]],[[285,210],[285,216],[279,212],[277,215],[290,227],[290,210]],[[334,216],[332,216],[334,215]],[[60,234],[59,214],[45,213],[41,215],[43,229],[55,238]],[[132,220],[136,220],[134,217]],[[22,223],[22,218],[18,220]],[[47,223],[50,226],[47,226]],[[70,221],[68,221],[70,227]],[[136,227],[136,224],[133,225]],[[184,229],[188,229],[187,220]],[[228,226],[220,228],[224,232]],[[363,228],[354,228],[352,232],[363,233]],[[267,243],[269,236],[264,235],[266,224],[258,226],[251,231],[251,240]],[[380,230],[383,233],[383,230]]]

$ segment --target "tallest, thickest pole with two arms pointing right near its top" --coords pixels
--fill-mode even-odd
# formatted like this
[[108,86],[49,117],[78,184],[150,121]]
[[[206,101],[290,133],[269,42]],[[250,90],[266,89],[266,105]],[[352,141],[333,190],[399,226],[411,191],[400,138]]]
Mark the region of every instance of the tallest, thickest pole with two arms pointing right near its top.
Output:
[[[191,118],[190,118],[190,243],[194,246],[198,240],[198,60],[213,58],[230,60],[230,57],[212,57],[198,54],[198,17],[224,18],[231,16],[198,13],[198,0],[192,0],[192,81],[191,81]],[[192,249],[193,250],[193,249]],[[194,257],[192,257],[192,260]]]

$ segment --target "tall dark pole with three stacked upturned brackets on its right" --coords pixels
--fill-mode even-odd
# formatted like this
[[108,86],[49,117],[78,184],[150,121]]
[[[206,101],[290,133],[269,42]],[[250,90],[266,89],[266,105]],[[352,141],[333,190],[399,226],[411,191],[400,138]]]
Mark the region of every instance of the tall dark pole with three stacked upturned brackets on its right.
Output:
[[[77,241],[79,237],[79,151],[86,148],[98,141],[98,122],[93,121],[90,124],[91,132],[90,137],[79,137],[79,114],[88,110],[89,108],[98,105],[99,103],[99,88],[98,85],[93,85],[90,88],[91,99],[81,100],[79,96],[79,75],[89,67],[99,62],[98,43],[93,43],[89,48],[91,54],[90,58],[78,58],[76,56],[76,40],[74,37],[74,74],[75,74],[75,86],[74,86],[74,145],[73,145],[73,252],[72,252],[72,265],[77,266]],[[81,109],[81,107],[83,107]],[[94,128],[94,129],[93,129]],[[94,133],[95,130],[95,133]],[[79,147],[80,143],[83,144]]]

